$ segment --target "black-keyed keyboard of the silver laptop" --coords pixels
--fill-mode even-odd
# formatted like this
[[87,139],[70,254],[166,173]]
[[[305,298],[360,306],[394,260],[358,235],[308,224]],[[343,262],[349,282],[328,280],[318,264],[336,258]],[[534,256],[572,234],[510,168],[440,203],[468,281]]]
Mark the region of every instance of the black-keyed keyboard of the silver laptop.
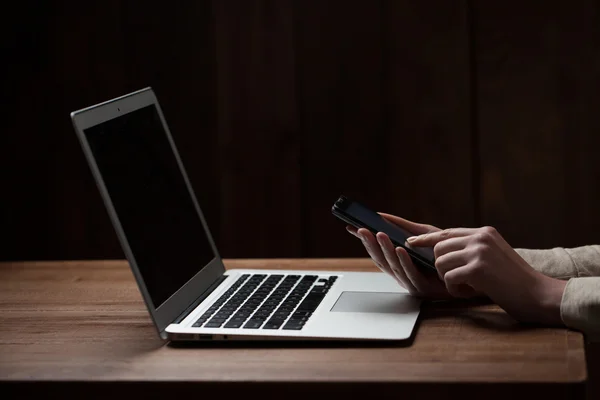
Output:
[[300,330],[337,276],[244,274],[192,325]]

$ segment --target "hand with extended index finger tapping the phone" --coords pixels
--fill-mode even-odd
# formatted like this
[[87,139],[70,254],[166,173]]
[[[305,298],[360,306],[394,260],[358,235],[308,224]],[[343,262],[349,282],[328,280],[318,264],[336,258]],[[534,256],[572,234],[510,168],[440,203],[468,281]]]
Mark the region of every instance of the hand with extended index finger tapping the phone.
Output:
[[491,227],[454,228],[411,237],[413,247],[433,247],[439,277],[452,295],[468,285],[487,295],[515,319],[562,324],[565,281],[534,270]]

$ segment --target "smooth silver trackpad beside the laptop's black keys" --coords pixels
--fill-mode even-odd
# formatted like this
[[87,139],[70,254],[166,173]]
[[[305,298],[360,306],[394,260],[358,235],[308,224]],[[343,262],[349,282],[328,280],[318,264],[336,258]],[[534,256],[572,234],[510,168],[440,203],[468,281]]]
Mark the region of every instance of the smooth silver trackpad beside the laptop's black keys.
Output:
[[342,292],[331,312],[405,314],[415,312],[418,304],[406,293]]

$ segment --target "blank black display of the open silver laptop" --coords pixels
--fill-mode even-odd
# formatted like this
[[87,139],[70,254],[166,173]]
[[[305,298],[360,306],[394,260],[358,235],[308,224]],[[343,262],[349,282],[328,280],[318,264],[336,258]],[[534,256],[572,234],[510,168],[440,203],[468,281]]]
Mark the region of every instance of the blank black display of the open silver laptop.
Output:
[[155,308],[214,257],[154,105],[85,129]]

